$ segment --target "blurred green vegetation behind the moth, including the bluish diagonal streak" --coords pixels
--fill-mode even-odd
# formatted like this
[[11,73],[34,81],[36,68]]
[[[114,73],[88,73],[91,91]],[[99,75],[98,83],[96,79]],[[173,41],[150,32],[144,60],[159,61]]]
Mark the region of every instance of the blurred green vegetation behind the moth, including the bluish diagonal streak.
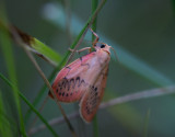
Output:
[[[69,2],[71,14],[70,33],[74,41],[91,15],[91,1],[74,0]],[[174,84],[174,0],[110,0],[106,2],[97,18],[96,33],[102,42],[112,45],[116,49],[119,64],[114,57],[112,58],[104,95],[105,101],[128,93]],[[67,14],[61,16],[60,12],[66,12],[63,1],[5,0],[4,5],[9,22],[44,44],[49,45],[61,57],[65,57],[65,53],[70,47],[70,39],[66,25]],[[56,9],[51,5],[55,5]],[[91,46],[86,42],[91,41],[90,36],[89,32],[84,43],[79,48]],[[12,59],[11,64],[14,65],[8,68],[7,64],[10,62],[5,59],[4,50],[1,48],[2,39],[0,41],[0,73],[8,77],[14,84],[16,82],[16,88],[22,91],[30,102],[33,102],[44,84],[43,79],[15,43],[11,44],[13,54],[10,53],[11,50],[8,52],[8,57]],[[49,77],[54,67],[37,56],[35,57],[45,75]],[[77,57],[79,56],[74,58]],[[12,72],[12,78],[9,75],[10,71],[14,71]],[[14,89],[14,91],[18,89]],[[47,96],[47,90],[45,91],[44,95],[40,96],[39,105]],[[0,115],[0,123],[4,121],[3,123],[7,123],[7,126],[12,123],[14,125],[16,123],[18,125],[20,124],[20,119],[16,116],[20,112],[19,110],[16,111],[16,106],[13,104],[15,100],[12,94],[12,89],[0,79],[0,112],[5,112],[5,114]],[[175,136],[174,104],[174,95],[165,95],[101,110],[96,117],[98,136],[173,137]],[[22,105],[22,113],[25,115],[28,106],[23,101],[21,101],[20,105]],[[37,109],[39,105],[37,105]],[[62,104],[62,106],[67,114],[78,110],[73,104]],[[149,111],[150,114],[148,116]],[[47,121],[61,116],[52,100],[48,101],[42,115]],[[31,122],[34,116],[33,113],[30,118]],[[72,119],[71,123],[79,135],[93,136],[93,124],[86,125],[81,119]],[[11,136],[12,133],[18,133],[16,128],[13,128],[13,124],[10,125],[10,128],[0,130],[2,135]],[[43,124],[40,119],[37,121],[36,125],[39,124]],[[0,124],[1,127],[3,127],[2,124]],[[30,123],[25,123],[26,132],[28,127]],[[70,136],[66,124],[56,125],[54,129],[59,136]],[[52,135],[48,129],[45,129],[33,136],[47,137]]]

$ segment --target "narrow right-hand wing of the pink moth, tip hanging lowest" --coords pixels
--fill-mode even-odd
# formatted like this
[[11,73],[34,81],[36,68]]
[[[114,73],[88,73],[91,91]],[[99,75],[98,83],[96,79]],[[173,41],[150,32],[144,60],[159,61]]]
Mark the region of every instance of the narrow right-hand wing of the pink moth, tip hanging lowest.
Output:
[[93,85],[89,88],[89,90],[85,92],[85,94],[80,101],[81,117],[88,123],[93,119],[102,101],[106,87],[107,72],[108,65],[104,68],[95,83],[93,83]]

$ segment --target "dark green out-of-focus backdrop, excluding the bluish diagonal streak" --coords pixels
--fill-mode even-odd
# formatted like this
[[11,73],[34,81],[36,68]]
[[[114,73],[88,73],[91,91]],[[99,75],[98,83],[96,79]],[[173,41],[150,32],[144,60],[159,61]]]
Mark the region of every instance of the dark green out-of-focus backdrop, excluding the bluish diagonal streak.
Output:
[[[43,18],[42,9],[48,2],[63,4],[62,1],[48,0],[4,1],[11,23],[63,56],[63,53],[70,46],[68,35],[61,26],[58,27]],[[75,14],[85,22],[91,15],[91,1],[70,1],[70,11],[71,14]],[[145,62],[174,83],[175,7],[173,0],[108,0],[97,16],[97,33],[100,37],[103,35],[103,37],[112,39],[137,59],[140,59],[141,62]],[[72,38],[74,39],[75,36],[72,36]],[[44,83],[43,79],[23,50],[18,45],[13,45],[19,88],[30,101],[33,101]],[[80,48],[82,47],[83,45]],[[45,75],[49,76],[54,68],[40,58],[36,58]],[[120,60],[120,58],[118,59]],[[8,75],[1,50],[0,71]],[[4,85],[1,87],[5,89]],[[160,85],[150,82],[112,59],[104,100],[107,101],[116,96],[153,88],[160,88]],[[47,95],[47,93],[45,94]],[[100,136],[140,137],[144,135],[144,125],[148,122],[149,137],[174,137],[174,95],[164,95],[101,110],[97,113]],[[27,106],[24,102],[22,102],[22,106],[25,114]],[[68,114],[74,111],[72,104],[63,104],[63,107]],[[75,104],[75,110],[78,110],[78,104]],[[149,111],[150,117],[145,121]],[[42,114],[47,119],[51,119],[60,115],[60,112],[56,103],[49,100]],[[71,122],[80,135],[92,136],[92,124],[82,124],[77,119]],[[70,136],[66,124],[57,125],[55,129],[61,136]],[[34,136],[48,137],[51,135],[46,129]]]

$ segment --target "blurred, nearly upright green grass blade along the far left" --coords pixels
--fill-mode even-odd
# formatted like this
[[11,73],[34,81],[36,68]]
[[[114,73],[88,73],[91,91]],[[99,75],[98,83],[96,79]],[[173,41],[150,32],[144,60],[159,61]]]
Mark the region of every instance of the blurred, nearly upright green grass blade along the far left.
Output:
[[[4,13],[4,9],[3,9],[3,4],[1,3],[0,5],[1,5],[0,19],[2,19],[3,22],[5,22],[4,24],[8,24],[7,23],[8,20],[5,18],[5,13]],[[15,84],[15,87],[12,88],[12,90],[13,90],[12,94],[13,94],[14,103],[16,105],[19,117],[20,117],[20,127],[21,127],[20,132],[24,137],[26,137],[25,126],[24,126],[24,121],[23,121],[23,115],[22,115],[22,109],[21,109],[21,104],[20,104],[20,98],[18,94],[18,79],[16,79],[16,73],[15,73],[15,64],[14,64],[14,59],[13,59],[14,57],[13,57],[13,52],[12,52],[12,47],[11,47],[10,36],[5,30],[0,32],[0,41],[1,41],[2,54],[3,54],[4,60],[5,60],[9,78]]]

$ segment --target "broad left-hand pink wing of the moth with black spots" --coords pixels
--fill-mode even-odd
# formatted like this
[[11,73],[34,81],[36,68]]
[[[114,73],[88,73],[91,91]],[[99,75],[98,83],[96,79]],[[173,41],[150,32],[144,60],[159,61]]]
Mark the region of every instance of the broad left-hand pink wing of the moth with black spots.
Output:
[[[59,101],[69,103],[81,99],[88,87],[85,76],[89,75],[89,64],[94,56],[95,53],[85,55],[60,70],[52,83],[52,90]],[[52,98],[50,92],[49,96]]]

